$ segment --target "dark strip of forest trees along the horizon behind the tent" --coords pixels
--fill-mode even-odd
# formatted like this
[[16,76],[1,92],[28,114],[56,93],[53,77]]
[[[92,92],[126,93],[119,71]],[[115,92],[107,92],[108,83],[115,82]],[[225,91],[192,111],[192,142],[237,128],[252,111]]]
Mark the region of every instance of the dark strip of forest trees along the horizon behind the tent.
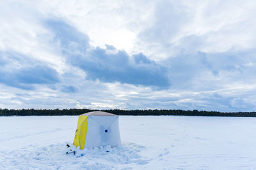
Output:
[[[0,109],[0,116],[62,116],[81,115],[90,111],[88,109],[54,109],[54,110],[8,110]],[[220,111],[198,111],[198,110],[101,110],[116,115],[179,115],[179,116],[204,116],[204,117],[256,117],[256,112],[220,112]]]

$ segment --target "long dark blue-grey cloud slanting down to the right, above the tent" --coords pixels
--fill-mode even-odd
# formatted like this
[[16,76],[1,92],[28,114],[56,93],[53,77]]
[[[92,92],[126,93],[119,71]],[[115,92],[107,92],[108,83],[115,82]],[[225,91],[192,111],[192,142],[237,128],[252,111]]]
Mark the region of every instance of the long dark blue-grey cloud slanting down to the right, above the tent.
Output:
[[[54,41],[60,41],[63,55],[73,66],[83,69],[89,80],[129,83],[133,85],[169,87],[166,69],[145,55],[128,55],[124,50],[89,46],[88,36],[63,21],[48,21]],[[70,33],[71,32],[71,33]],[[115,51],[115,52],[109,52]]]

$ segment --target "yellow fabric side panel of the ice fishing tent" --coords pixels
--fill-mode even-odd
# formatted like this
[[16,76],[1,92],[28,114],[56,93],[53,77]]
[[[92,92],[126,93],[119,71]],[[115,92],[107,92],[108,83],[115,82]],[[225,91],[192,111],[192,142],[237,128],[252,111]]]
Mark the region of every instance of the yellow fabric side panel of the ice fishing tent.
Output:
[[[80,148],[84,148],[84,143],[86,139],[86,132],[87,132],[87,125],[88,125],[88,116],[79,116],[77,122],[77,129],[76,129],[76,136],[73,141],[73,145],[83,146]],[[80,136],[81,135],[81,136]]]

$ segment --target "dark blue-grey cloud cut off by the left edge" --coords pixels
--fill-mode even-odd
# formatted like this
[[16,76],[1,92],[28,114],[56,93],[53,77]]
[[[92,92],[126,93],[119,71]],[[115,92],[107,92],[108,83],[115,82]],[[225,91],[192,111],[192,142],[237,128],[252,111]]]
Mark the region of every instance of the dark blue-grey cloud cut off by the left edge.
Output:
[[35,84],[54,84],[60,81],[55,69],[28,56],[15,52],[0,52],[0,83],[20,89],[33,89]]

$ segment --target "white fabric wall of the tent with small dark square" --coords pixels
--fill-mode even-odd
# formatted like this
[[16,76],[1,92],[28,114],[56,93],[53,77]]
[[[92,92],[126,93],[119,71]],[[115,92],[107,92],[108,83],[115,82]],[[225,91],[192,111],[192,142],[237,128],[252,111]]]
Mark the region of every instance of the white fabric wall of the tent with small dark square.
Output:
[[118,116],[89,116],[84,148],[120,144]]

